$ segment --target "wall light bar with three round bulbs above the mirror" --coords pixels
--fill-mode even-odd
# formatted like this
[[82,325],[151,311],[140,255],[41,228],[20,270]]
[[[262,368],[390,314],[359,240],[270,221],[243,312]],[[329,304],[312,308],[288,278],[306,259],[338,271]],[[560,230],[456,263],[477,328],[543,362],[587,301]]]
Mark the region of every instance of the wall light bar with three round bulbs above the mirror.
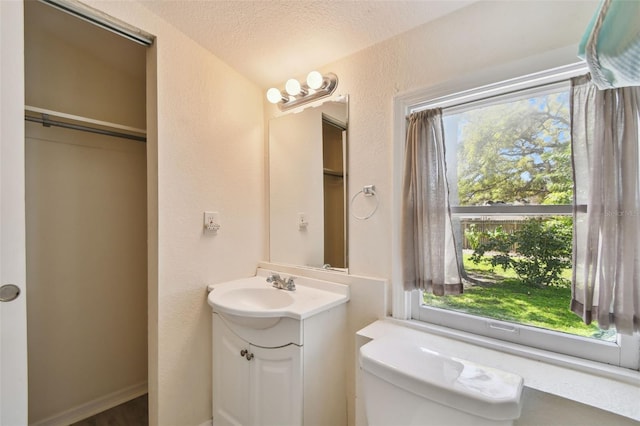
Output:
[[311,71],[305,84],[300,84],[295,78],[287,80],[284,90],[272,87],[267,90],[267,99],[272,104],[278,104],[281,111],[315,101],[332,94],[338,87],[338,76],[333,73],[325,75],[318,71]]

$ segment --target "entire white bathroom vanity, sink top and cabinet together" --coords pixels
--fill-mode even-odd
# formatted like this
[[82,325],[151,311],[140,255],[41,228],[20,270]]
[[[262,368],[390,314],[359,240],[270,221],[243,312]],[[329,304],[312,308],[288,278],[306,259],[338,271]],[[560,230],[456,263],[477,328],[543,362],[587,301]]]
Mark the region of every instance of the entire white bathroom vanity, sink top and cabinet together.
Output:
[[[268,280],[267,280],[268,278]],[[276,272],[210,286],[214,426],[346,426],[349,287]]]

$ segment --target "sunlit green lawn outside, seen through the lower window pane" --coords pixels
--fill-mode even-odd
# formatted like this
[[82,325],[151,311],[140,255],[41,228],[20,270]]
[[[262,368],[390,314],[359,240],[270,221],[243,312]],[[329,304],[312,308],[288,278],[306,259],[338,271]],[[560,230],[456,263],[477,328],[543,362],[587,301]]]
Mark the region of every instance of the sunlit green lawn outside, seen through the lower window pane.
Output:
[[[487,284],[465,286],[459,296],[433,296],[425,293],[425,303],[443,309],[528,324],[580,336],[611,339],[614,332],[585,325],[569,310],[571,289],[568,287],[531,287],[522,284],[513,271],[491,270],[488,263],[474,264],[464,256],[469,274],[490,277]],[[571,271],[565,272],[570,278]]]

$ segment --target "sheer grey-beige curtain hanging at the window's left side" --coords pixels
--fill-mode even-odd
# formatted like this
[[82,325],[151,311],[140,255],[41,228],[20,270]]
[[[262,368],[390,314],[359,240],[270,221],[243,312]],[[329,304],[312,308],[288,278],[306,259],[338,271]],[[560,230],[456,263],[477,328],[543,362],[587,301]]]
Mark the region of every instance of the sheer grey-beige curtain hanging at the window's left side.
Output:
[[402,189],[402,272],[405,290],[462,293],[449,208],[440,109],[411,114]]

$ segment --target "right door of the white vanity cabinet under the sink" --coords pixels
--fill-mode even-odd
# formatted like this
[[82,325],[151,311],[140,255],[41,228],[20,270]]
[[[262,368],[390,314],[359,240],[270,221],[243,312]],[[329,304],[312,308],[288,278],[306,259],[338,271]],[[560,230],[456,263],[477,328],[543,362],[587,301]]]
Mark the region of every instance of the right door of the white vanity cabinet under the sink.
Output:
[[302,347],[251,347],[251,425],[302,425]]

